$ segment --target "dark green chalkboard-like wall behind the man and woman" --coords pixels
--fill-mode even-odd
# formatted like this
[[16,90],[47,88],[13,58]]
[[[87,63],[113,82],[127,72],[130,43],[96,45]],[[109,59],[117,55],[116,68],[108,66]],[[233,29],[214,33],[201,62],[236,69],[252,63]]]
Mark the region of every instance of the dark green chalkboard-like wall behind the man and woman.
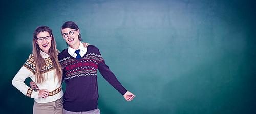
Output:
[[[101,113],[255,113],[255,1],[2,1],[0,113],[32,113],[11,84],[37,26],[74,21],[136,97],[98,76]],[[100,74],[98,72],[98,74]],[[29,80],[26,80],[28,83]],[[65,86],[65,85],[64,85]]]

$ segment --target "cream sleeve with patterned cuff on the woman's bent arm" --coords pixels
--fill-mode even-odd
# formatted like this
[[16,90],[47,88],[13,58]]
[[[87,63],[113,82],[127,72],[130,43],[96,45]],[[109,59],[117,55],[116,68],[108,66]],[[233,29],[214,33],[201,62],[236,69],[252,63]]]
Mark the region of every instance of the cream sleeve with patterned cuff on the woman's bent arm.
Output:
[[32,88],[24,83],[25,79],[31,76],[33,76],[33,73],[26,67],[22,66],[22,68],[14,76],[12,80],[12,85],[16,87],[20,92],[22,92],[25,96],[37,99],[39,92],[35,92]]

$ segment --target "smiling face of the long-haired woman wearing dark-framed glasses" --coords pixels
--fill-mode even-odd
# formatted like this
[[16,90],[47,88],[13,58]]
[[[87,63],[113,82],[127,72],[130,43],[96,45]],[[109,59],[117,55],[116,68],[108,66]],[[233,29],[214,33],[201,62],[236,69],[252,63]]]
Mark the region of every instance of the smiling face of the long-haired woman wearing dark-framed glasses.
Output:
[[49,54],[49,49],[52,45],[52,36],[50,36],[49,32],[40,32],[38,35],[37,35],[37,40],[36,40],[36,43],[39,45],[40,49]]

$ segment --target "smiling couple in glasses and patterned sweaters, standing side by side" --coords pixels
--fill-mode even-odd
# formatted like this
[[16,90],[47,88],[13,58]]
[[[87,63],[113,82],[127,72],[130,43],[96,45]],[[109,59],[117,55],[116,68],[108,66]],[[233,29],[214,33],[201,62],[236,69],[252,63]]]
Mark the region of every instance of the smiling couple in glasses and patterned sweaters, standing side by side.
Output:
[[[65,22],[61,34],[69,47],[59,53],[52,30],[38,26],[33,34],[32,54],[12,80],[20,92],[34,98],[33,113],[100,113],[97,69],[127,101],[135,97],[110,71],[98,48],[80,42],[80,30],[74,22]],[[38,90],[24,83],[28,77]],[[64,80],[65,93],[61,88]]]

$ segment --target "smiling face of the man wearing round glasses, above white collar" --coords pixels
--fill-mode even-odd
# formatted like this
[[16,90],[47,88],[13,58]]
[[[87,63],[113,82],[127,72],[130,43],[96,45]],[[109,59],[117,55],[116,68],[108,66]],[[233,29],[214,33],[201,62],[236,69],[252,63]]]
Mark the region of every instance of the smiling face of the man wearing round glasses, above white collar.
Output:
[[62,29],[62,37],[65,39],[65,41],[69,44],[69,46],[73,49],[78,49],[80,41],[78,39],[78,35],[80,33],[79,29],[70,29],[65,28]]

